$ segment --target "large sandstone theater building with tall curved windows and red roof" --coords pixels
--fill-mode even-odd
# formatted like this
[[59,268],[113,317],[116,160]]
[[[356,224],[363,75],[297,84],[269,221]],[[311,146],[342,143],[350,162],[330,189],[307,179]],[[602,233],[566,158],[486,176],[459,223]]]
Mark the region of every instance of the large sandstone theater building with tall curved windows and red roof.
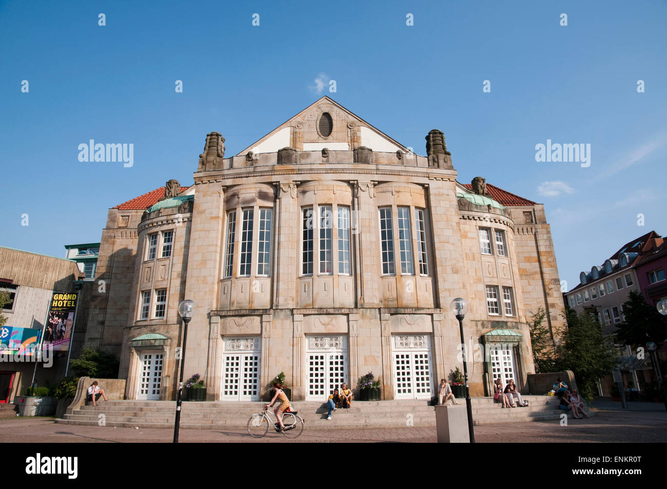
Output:
[[[194,184],[109,209],[86,342],[119,354],[128,399],[259,400],[285,372],[294,400],[324,400],[372,371],[384,399],[427,399],[460,361],[464,297],[473,396],[534,372],[526,321],[563,310],[542,205],[456,181],[444,136],[412,153],[328,97],[237,155],[209,133]],[[509,179],[508,179],[509,181]]]

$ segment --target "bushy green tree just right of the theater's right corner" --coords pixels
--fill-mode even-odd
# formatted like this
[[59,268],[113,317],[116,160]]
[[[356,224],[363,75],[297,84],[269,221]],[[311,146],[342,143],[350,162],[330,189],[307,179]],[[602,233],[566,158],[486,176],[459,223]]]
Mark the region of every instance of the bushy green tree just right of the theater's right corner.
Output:
[[602,334],[602,325],[590,314],[578,315],[568,309],[565,318],[567,328],[562,332],[558,347],[560,370],[572,370],[579,392],[592,400],[598,378],[608,374],[616,366],[611,345]]

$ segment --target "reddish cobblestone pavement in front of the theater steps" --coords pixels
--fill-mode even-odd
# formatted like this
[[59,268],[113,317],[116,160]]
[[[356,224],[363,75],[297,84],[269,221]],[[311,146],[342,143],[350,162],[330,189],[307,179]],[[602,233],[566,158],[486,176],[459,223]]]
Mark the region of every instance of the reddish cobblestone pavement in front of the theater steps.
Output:
[[[0,420],[0,442],[171,442],[173,430],[57,424],[53,418]],[[435,428],[303,430],[295,440],[277,433],[251,438],[245,430],[181,430],[181,442],[437,442]],[[475,426],[476,442],[667,442],[667,412],[600,411],[588,420]]]

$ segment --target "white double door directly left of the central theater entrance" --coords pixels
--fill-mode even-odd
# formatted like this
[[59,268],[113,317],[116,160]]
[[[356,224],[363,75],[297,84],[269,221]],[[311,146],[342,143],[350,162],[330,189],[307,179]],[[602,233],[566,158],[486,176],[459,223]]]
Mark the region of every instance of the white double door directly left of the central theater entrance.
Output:
[[225,338],[220,400],[259,401],[259,338]]

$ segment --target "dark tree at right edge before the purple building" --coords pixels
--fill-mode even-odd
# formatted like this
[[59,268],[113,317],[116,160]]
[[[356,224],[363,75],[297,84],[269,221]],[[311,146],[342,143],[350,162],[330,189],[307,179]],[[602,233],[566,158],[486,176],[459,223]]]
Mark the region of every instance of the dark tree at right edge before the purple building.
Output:
[[667,316],[650,306],[639,292],[630,292],[623,304],[625,321],[618,325],[616,342],[630,346],[644,346],[646,342],[662,343],[667,338]]

